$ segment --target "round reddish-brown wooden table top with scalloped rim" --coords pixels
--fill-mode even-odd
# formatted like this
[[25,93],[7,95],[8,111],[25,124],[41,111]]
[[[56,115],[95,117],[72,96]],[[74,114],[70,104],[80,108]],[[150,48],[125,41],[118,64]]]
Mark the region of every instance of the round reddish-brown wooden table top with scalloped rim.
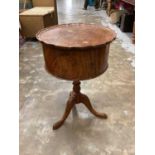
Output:
[[90,48],[110,43],[116,37],[111,29],[94,24],[62,24],[36,34],[39,41],[59,48]]

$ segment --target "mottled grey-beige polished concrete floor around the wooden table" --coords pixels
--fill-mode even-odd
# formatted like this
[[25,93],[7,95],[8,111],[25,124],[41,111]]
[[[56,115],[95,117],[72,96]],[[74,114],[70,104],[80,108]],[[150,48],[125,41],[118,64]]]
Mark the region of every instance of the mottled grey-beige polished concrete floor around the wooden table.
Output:
[[[59,23],[114,27],[105,11],[82,7],[83,0],[58,0]],[[20,155],[134,155],[134,54],[126,38],[119,32],[111,44],[106,73],[81,84],[108,119],[94,117],[79,104],[78,115],[70,114],[56,131],[52,124],[64,112],[72,83],[45,71],[40,43],[29,41],[20,48]]]

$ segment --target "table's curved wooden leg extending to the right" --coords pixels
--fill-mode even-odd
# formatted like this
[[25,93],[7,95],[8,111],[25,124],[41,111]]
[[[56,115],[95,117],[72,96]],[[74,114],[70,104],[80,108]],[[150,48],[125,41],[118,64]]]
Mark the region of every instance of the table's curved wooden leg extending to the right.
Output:
[[99,117],[99,118],[104,118],[106,119],[107,118],[107,115],[105,113],[98,113],[91,105],[90,103],[90,100],[89,98],[84,95],[84,94],[81,94],[81,102],[89,109],[89,111],[94,114],[96,117]]

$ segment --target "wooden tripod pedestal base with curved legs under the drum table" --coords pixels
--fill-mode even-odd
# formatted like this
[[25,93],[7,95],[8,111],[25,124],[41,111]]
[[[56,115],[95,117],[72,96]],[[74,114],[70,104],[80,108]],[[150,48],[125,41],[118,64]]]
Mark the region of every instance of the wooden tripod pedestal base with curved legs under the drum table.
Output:
[[69,99],[67,101],[67,105],[65,108],[65,112],[60,121],[56,122],[53,125],[53,130],[58,129],[63,125],[65,120],[67,119],[69,113],[71,112],[72,108],[75,104],[83,103],[89,111],[94,114],[96,117],[106,119],[107,115],[105,113],[98,113],[91,105],[89,98],[85,95],[80,93],[80,81],[73,82],[73,91],[70,93]]

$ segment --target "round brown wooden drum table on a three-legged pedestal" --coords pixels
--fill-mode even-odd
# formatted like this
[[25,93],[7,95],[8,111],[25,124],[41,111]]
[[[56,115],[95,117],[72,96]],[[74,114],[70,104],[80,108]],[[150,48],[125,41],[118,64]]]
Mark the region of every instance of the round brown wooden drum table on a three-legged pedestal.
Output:
[[89,98],[80,92],[80,81],[95,78],[106,71],[109,46],[116,34],[103,26],[78,23],[45,28],[36,37],[43,46],[46,70],[57,78],[73,81],[65,112],[53,129],[61,127],[72,108],[79,103],[95,116],[106,119],[107,115],[97,112]]

